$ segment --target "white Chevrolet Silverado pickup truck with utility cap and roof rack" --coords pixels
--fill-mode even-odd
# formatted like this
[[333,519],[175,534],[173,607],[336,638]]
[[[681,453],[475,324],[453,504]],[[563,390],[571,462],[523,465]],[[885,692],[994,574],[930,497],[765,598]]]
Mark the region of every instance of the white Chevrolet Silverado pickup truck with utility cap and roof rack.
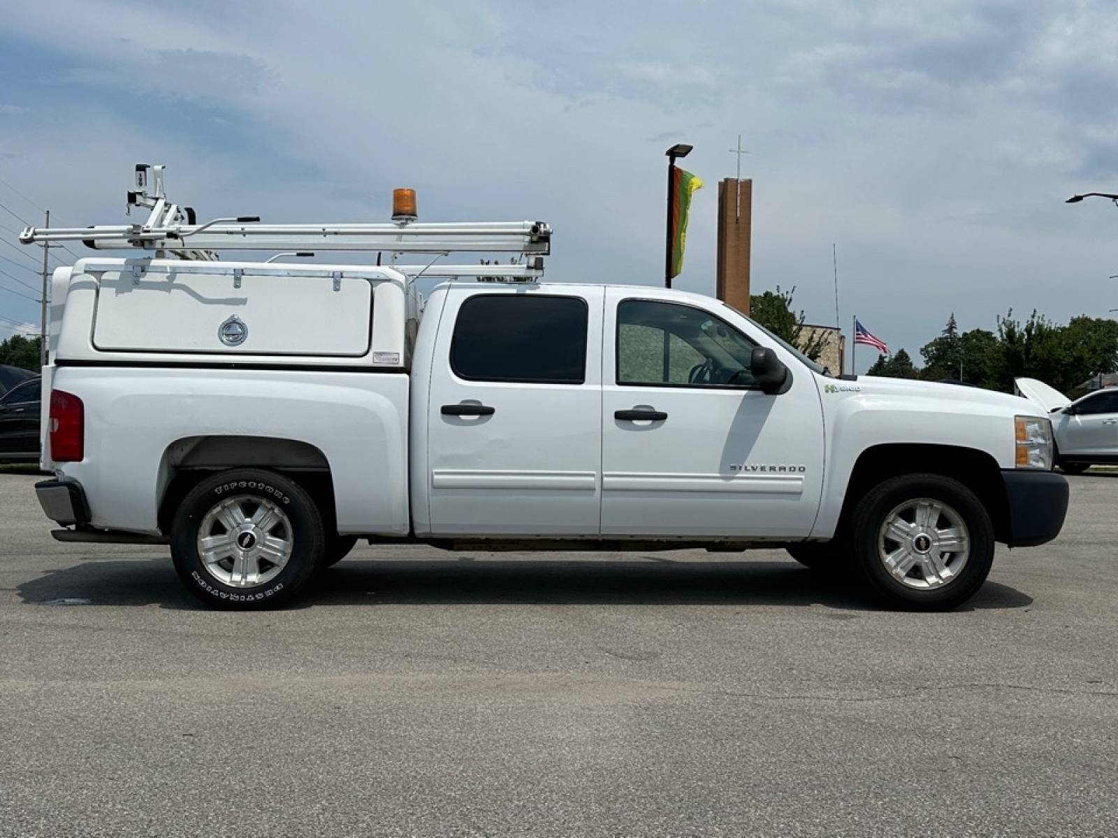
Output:
[[[786,547],[892,606],[946,609],[983,584],[995,542],[1063,524],[1049,419],[1024,399],[835,378],[695,294],[543,283],[539,222],[193,225],[161,175],[130,193],[146,225],[22,235],[144,251],[54,274],[55,477],[36,488],[55,537],[169,543],[211,606],[288,601],[367,539]],[[293,245],[528,261],[212,258]],[[426,299],[424,272],[447,277]]]

